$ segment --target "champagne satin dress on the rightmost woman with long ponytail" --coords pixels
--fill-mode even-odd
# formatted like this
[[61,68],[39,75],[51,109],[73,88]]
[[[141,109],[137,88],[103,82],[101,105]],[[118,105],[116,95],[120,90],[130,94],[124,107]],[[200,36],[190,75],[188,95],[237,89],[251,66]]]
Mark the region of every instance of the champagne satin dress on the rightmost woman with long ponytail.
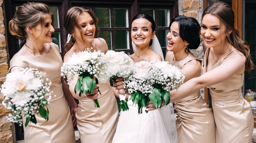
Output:
[[[231,54],[233,51],[221,58],[210,70],[221,65],[228,56],[240,54]],[[208,54],[209,48],[205,52],[203,73],[206,72]],[[244,73],[234,74],[229,79],[208,87],[216,123],[216,143],[252,142],[253,115],[250,103],[242,95],[243,81]]]

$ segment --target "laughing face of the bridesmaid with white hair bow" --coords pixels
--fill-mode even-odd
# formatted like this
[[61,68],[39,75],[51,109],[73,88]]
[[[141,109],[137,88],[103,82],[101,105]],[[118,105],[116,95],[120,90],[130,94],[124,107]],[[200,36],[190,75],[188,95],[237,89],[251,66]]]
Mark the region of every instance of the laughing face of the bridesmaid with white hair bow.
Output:
[[73,33],[75,40],[81,42],[83,42],[83,40],[85,42],[92,42],[96,31],[92,16],[88,12],[80,13],[77,17],[77,24],[79,25],[79,28],[81,28],[83,35],[81,35],[79,28],[75,26],[75,31]]

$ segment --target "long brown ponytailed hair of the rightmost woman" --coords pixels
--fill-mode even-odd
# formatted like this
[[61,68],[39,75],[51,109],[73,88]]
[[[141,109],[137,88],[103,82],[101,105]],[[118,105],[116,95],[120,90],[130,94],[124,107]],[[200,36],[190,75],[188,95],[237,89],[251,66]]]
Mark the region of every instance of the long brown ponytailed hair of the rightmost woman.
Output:
[[211,14],[218,17],[220,22],[226,26],[226,35],[228,35],[228,31],[232,30],[230,35],[227,36],[227,40],[232,46],[245,55],[245,71],[250,73],[250,71],[254,69],[254,64],[251,59],[249,45],[247,45],[246,41],[241,39],[238,30],[234,28],[235,16],[232,8],[227,3],[219,1],[208,6],[203,11],[202,19],[205,14]]

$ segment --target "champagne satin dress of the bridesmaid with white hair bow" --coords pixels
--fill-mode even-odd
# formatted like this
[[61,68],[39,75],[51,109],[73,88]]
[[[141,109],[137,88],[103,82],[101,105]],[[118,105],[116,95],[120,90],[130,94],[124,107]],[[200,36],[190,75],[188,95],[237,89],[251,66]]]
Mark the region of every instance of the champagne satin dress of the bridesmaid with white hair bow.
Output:
[[99,108],[88,98],[79,100],[76,120],[82,143],[111,143],[116,132],[118,106],[109,80],[99,81],[99,91]]

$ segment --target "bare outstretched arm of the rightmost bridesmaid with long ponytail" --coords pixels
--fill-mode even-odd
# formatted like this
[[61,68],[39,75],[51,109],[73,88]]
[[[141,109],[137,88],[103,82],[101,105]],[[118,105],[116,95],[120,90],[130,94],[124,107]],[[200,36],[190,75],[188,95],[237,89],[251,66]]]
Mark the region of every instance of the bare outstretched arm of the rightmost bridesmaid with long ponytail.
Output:
[[[207,71],[200,77],[188,80],[178,90],[172,90],[170,92],[170,102],[181,100],[201,88],[221,83],[234,74],[242,74],[241,69],[245,69],[245,57],[238,54],[228,56],[220,66]],[[154,110],[154,108],[148,108],[148,111],[151,110]]]

